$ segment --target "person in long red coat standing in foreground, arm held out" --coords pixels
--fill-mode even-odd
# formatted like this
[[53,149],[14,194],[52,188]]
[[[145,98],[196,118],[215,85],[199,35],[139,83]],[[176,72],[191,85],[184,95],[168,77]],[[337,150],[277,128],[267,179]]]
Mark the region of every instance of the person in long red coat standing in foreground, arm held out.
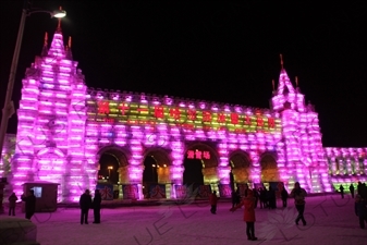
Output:
[[255,196],[252,189],[247,191],[247,196],[242,199],[242,203],[234,208],[231,208],[230,211],[235,211],[237,208],[245,206],[244,210],[244,221],[246,222],[246,234],[247,240],[256,241],[255,236]]

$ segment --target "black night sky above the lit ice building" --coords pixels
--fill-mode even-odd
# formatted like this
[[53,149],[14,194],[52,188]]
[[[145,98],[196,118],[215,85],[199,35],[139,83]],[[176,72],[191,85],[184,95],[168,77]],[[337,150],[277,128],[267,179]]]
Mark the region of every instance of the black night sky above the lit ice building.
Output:
[[[86,3],[83,3],[86,2]],[[319,112],[325,146],[367,147],[365,1],[33,1],[68,11],[64,39],[89,87],[268,108],[279,53]],[[1,108],[23,1],[0,1]],[[13,99],[57,20],[27,19]],[[16,131],[16,115],[9,132]]]

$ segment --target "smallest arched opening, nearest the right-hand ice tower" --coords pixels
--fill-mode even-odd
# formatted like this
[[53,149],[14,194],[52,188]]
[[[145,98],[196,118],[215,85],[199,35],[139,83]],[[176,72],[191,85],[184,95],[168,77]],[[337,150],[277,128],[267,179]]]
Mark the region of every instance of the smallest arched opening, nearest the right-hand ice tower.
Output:
[[280,181],[277,160],[272,155],[270,154],[264,155],[260,160],[260,167],[261,167],[262,183]]

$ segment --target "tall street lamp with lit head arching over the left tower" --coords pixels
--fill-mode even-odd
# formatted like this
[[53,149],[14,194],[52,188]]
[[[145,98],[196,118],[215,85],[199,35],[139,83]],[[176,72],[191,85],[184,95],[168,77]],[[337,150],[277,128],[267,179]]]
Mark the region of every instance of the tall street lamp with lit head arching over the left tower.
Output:
[[15,81],[15,73],[17,68],[17,61],[20,58],[20,51],[22,46],[22,39],[23,39],[23,33],[24,33],[24,26],[25,26],[25,20],[27,16],[29,16],[33,13],[48,13],[51,15],[51,17],[58,17],[59,21],[61,17],[66,16],[66,12],[64,10],[60,9],[57,11],[46,11],[46,10],[35,10],[35,9],[28,9],[27,2],[25,1],[23,11],[22,11],[22,17],[20,23],[20,29],[17,30],[17,38],[15,44],[15,50],[13,53],[13,61],[12,65],[10,68],[10,75],[9,75],[9,82],[8,82],[8,89],[7,89],[7,96],[4,101],[4,107],[2,109],[2,118],[1,118],[1,127],[0,127],[0,157],[2,158],[2,148],[5,139],[5,134],[8,130],[8,121],[9,119],[14,114],[14,103],[12,101],[12,95],[14,89],[14,81]]

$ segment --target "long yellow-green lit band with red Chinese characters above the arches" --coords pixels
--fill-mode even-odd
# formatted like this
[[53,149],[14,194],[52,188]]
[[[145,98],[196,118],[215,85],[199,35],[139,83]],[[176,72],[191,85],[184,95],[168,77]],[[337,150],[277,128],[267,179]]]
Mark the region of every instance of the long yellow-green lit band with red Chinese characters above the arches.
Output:
[[131,125],[168,123],[184,130],[230,131],[233,133],[274,133],[281,131],[280,119],[260,111],[245,113],[197,110],[179,106],[150,106],[113,100],[87,100],[88,121]]

